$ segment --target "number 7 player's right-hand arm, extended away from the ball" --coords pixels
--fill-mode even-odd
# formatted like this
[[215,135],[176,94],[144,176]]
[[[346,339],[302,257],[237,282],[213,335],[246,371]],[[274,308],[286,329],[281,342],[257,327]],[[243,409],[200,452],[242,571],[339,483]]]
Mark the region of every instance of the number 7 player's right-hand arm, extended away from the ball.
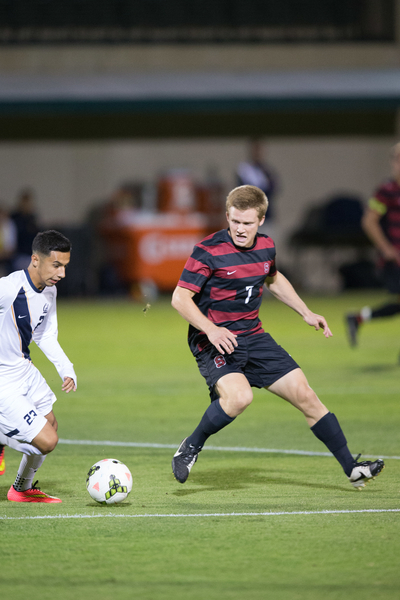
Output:
[[301,315],[304,321],[314,327],[316,331],[323,330],[326,338],[332,336],[332,332],[328,327],[326,319],[322,315],[313,313],[305,302],[300,298],[292,284],[286,279],[282,273],[277,272],[273,277],[267,277],[265,285],[275,298],[295,310]]

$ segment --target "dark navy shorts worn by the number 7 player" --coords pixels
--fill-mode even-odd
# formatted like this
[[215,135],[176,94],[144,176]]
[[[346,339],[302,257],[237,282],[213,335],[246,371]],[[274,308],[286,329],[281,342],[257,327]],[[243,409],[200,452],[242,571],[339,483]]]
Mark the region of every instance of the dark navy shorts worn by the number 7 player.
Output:
[[228,373],[243,373],[252,387],[272,385],[299,365],[269,333],[238,335],[232,354],[220,354],[211,343],[196,356],[197,366],[210,390],[211,401],[218,398],[215,384]]

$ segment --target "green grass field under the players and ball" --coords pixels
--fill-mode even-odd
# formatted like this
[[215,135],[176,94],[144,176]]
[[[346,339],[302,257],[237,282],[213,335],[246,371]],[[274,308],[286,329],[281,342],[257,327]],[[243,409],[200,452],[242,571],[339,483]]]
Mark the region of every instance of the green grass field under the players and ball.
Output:
[[[326,449],[302,415],[261,390],[177,483],[172,454],[208,404],[186,324],[167,299],[147,314],[123,300],[60,301],[59,337],[78,391],[62,394],[54,367],[36,348],[32,356],[57,393],[61,438],[39,485],[63,502],[7,502],[21,455],[6,450],[1,598],[397,600],[400,319],[366,325],[356,349],[343,326],[347,310],[384,298],[306,298],[328,319],[330,340],[271,298],[261,311],[338,416],[350,450],[389,457],[362,492],[318,454]],[[107,457],[125,462],[134,479],[115,506],[96,504],[85,486],[90,466]]]

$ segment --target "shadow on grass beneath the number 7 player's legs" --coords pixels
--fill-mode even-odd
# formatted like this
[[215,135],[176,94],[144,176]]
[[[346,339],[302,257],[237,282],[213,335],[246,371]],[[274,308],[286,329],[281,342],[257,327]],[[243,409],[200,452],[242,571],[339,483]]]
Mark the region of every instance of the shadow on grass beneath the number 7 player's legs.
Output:
[[[185,484],[185,488],[173,492],[173,495],[182,497],[189,496],[191,494],[199,494],[202,492],[243,490],[253,485],[263,485],[266,487],[272,485],[283,485],[318,490],[336,490],[352,494],[355,492],[350,484],[347,488],[344,486],[330,485],[327,483],[311,483],[307,481],[300,481],[298,479],[290,479],[288,477],[279,476],[277,473],[271,474],[271,472],[269,472],[268,475],[266,473],[266,469],[247,468],[218,469],[213,471],[210,470],[204,473],[196,473],[191,475],[190,482],[189,484]],[[186,487],[187,485],[191,484],[201,487]]]

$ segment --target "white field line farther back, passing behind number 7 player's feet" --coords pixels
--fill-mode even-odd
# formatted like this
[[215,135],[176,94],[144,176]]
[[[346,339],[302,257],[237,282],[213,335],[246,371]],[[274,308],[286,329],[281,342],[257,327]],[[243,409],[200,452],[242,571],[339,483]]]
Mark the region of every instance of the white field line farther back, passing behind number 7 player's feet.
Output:
[[[162,448],[176,450],[178,444],[150,444],[141,442],[113,442],[109,440],[93,441],[93,440],[66,440],[60,439],[59,444],[67,444],[70,446],[114,446],[120,448]],[[258,452],[262,454],[297,454],[300,456],[332,456],[330,452],[311,452],[308,450],[283,450],[277,448],[246,448],[232,446],[205,446],[203,450],[215,450],[217,452]],[[380,454],[364,454],[363,458],[385,458],[400,460],[400,456],[385,456]]]

